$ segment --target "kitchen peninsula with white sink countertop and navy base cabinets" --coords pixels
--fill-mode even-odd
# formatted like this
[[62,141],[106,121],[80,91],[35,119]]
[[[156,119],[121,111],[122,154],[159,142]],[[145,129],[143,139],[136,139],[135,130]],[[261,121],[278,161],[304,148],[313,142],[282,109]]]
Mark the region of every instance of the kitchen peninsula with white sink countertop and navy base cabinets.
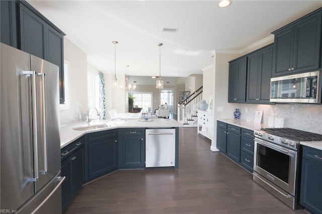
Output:
[[145,169],[145,144],[149,143],[145,130],[173,130],[174,168],[178,169],[179,127],[182,124],[173,119],[97,120],[90,125],[82,121],[61,126],[61,175],[66,177],[62,184],[63,210],[84,183],[119,169]]

